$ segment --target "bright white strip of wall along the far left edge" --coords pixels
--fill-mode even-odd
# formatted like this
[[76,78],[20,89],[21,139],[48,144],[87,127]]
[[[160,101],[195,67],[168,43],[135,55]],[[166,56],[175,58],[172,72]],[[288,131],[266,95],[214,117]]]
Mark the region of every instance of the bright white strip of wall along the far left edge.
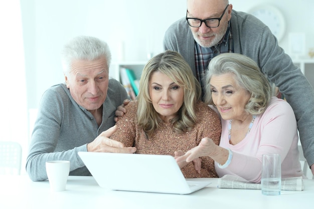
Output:
[[[0,1],[0,141],[19,142],[24,147],[24,164],[28,147],[28,117],[21,20],[19,0]],[[25,170],[23,168],[21,172]]]

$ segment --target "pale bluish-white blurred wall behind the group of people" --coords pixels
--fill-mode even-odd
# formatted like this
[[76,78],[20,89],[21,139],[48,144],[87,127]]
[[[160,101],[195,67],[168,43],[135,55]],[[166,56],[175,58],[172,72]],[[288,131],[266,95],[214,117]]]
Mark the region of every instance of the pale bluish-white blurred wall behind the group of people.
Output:
[[[288,52],[288,34],[303,32],[306,50],[314,48],[314,1],[229,2],[234,10],[243,12],[259,4],[276,6],[287,22],[280,46]],[[105,40],[113,62],[118,60],[120,43],[124,43],[125,60],[146,60],[148,52],[163,51],[164,33],[174,21],[185,16],[186,0],[21,0],[21,9],[28,108],[37,108],[44,90],[63,82],[60,51],[69,39],[91,35]]]

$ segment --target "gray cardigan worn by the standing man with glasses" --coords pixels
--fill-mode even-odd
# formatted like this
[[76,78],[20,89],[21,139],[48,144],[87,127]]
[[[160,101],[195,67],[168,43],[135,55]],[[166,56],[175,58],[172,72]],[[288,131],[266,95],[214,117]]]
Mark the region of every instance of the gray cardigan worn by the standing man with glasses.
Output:
[[[261,21],[246,13],[232,11],[231,27],[234,52],[252,58],[282,92],[292,106],[304,156],[314,163],[314,91],[290,57],[278,46],[277,39]],[[167,30],[165,50],[179,52],[190,64],[194,75],[194,38],[185,18]]]

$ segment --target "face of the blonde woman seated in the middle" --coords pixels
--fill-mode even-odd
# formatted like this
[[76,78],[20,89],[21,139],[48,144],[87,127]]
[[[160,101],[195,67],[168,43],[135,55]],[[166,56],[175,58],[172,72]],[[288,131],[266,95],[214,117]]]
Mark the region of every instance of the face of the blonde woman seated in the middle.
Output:
[[151,74],[149,96],[156,112],[165,122],[177,115],[184,99],[184,89],[161,72]]

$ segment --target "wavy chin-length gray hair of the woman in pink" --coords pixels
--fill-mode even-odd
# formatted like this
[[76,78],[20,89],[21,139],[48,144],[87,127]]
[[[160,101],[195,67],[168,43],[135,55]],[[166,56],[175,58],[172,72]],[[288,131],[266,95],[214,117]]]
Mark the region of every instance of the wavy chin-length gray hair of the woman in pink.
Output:
[[251,58],[236,53],[224,53],[210,61],[205,78],[205,102],[214,104],[210,91],[212,76],[226,73],[233,74],[237,84],[250,93],[251,98],[245,106],[245,111],[252,115],[263,113],[271,100],[273,89]]

